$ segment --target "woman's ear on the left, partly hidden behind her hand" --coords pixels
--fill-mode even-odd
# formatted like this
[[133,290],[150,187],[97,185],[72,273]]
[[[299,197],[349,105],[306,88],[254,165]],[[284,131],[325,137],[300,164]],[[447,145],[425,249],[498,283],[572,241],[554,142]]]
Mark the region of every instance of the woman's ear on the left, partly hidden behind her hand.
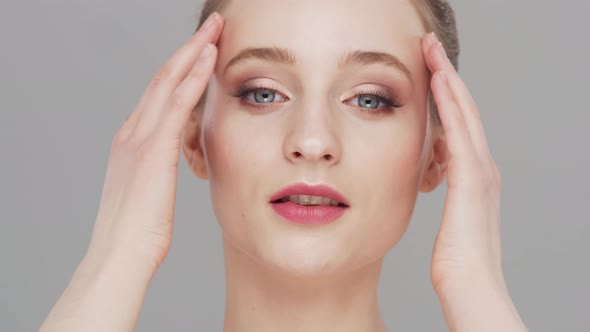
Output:
[[199,110],[191,112],[183,132],[182,150],[191,171],[199,179],[207,180],[207,163],[201,142],[201,114]]

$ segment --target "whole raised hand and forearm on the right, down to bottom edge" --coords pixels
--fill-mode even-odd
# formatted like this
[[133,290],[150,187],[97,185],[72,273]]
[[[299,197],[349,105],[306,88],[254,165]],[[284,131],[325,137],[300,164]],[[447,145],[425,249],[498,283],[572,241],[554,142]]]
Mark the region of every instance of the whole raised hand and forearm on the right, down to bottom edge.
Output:
[[434,34],[422,40],[449,154],[430,277],[451,331],[527,331],[502,271],[500,172],[479,110]]

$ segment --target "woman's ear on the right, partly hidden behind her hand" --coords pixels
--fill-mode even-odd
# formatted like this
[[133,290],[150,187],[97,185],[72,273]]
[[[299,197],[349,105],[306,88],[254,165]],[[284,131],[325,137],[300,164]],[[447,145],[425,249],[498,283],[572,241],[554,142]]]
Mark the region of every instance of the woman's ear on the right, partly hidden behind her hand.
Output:
[[447,166],[449,163],[449,150],[447,148],[447,139],[443,130],[440,130],[430,148],[430,153],[422,182],[420,183],[421,192],[431,192],[436,189],[446,178]]

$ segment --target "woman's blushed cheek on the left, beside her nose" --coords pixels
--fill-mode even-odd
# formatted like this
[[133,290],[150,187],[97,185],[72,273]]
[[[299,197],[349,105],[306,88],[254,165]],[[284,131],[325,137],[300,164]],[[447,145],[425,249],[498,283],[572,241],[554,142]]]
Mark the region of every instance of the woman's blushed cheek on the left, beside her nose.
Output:
[[269,178],[269,151],[276,150],[271,144],[277,140],[243,111],[222,105],[226,102],[211,104],[204,117],[203,148],[216,219],[232,242],[243,247],[257,232],[249,221],[259,217],[253,203],[267,194],[262,181]]

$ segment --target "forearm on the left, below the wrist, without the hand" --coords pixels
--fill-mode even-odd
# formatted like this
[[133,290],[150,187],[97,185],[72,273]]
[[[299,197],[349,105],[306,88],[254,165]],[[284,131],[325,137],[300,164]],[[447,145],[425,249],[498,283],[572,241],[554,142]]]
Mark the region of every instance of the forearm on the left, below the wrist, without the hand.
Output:
[[152,276],[128,255],[86,257],[40,332],[133,331]]

